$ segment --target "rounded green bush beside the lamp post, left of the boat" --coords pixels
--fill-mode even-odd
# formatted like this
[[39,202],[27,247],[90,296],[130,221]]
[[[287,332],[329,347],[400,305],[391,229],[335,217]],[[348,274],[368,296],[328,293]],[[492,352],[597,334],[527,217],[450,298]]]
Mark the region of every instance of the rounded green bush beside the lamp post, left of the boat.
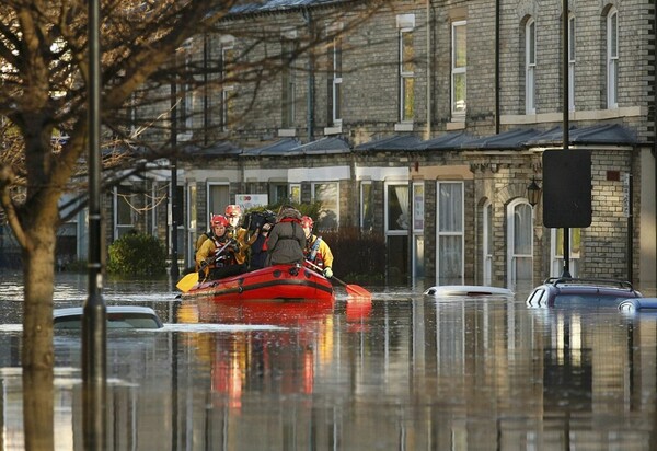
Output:
[[107,271],[120,276],[161,276],[166,248],[155,236],[130,232],[110,245]]

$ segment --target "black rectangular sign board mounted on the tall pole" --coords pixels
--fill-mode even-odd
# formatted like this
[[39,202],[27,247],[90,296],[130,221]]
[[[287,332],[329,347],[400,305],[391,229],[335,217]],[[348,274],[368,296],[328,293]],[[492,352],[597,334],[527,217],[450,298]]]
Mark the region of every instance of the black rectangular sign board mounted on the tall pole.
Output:
[[543,152],[543,226],[591,224],[591,153],[588,150]]

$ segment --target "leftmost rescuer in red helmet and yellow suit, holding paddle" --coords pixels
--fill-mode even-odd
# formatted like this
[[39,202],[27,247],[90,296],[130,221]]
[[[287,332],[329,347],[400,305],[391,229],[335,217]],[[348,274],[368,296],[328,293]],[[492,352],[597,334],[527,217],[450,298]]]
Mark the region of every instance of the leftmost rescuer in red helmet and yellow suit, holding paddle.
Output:
[[228,233],[228,219],[222,215],[215,215],[211,224],[212,236],[196,253],[198,280],[222,279],[245,273],[246,264],[240,264],[237,258],[240,243]]

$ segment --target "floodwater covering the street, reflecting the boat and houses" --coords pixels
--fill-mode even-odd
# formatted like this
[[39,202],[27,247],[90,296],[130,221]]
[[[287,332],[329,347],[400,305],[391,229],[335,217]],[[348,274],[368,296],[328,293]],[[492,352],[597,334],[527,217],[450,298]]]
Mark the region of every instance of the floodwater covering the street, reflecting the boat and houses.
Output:
[[[107,336],[116,450],[654,450],[657,314],[337,289],[334,304],[182,302],[108,282],[160,331]],[[366,287],[367,288],[367,287]],[[84,302],[61,276],[56,307]],[[23,448],[20,278],[0,280],[1,450]],[[83,449],[81,344],[56,334],[56,449]]]

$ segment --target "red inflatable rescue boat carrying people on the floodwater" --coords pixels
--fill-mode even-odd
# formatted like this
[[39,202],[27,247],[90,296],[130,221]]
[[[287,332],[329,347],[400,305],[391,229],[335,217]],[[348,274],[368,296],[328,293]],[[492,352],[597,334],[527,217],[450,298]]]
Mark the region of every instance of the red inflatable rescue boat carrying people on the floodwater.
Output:
[[217,301],[246,299],[304,299],[332,301],[333,286],[322,275],[304,267],[275,265],[238,276],[197,284],[183,299],[210,297]]

